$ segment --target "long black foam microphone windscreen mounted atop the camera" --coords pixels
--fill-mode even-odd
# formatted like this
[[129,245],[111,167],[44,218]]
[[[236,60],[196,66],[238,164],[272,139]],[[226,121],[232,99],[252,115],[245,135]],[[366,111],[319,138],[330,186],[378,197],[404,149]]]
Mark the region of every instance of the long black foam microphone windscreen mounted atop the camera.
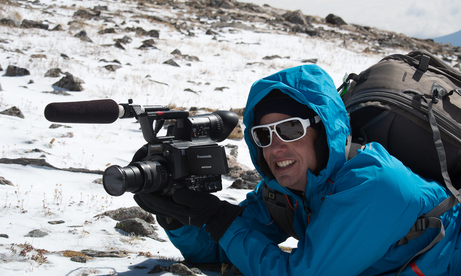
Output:
[[118,119],[119,112],[111,99],[51,103],[45,107],[45,118],[56,123],[110,124]]

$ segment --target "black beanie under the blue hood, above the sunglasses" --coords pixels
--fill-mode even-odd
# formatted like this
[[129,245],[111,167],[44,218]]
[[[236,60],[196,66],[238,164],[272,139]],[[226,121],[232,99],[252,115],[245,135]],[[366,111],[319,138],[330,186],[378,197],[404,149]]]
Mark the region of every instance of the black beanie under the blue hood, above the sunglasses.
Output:
[[[254,126],[260,124],[261,118],[270,113],[281,113],[291,117],[299,117],[301,119],[313,118],[317,115],[315,111],[308,108],[307,105],[301,104],[288,94],[272,89],[258,104],[254,106]],[[310,127],[319,131],[320,124],[314,123]]]

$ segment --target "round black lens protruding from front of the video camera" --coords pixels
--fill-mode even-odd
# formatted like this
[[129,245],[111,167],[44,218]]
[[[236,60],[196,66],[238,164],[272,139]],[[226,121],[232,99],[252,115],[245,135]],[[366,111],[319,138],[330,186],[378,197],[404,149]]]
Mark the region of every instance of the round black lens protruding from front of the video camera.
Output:
[[104,189],[111,196],[121,196],[124,192],[154,192],[163,189],[167,180],[166,168],[157,161],[132,162],[127,167],[110,166],[102,176]]

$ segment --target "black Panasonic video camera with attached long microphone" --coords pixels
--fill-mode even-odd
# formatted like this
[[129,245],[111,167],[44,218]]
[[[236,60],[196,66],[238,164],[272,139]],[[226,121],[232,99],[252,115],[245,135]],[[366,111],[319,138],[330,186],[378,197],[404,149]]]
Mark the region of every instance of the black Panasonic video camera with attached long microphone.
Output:
[[[141,151],[146,155],[126,167],[106,168],[102,183],[109,195],[156,192],[171,196],[180,187],[208,193],[222,190],[221,175],[229,173],[229,167],[224,146],[216,142],[224,141],[236,127],[238,116],[234,112],[217,110],[189,116],[185,110],[142,106],[131,99],[128,104],[106,99],[51,103],[45,108],[45,118],[60,123],[112,123],[133,117],[148,142],[147,150]],[[158,137],[166,120],[176,121],[168,126],[165,136]]]

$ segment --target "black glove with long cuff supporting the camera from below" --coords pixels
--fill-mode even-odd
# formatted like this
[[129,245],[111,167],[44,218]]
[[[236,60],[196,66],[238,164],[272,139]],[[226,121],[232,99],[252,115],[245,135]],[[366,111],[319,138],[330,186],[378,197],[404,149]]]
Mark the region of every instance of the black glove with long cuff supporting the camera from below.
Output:
[[182,224],[199,228],[207,224],[205,231],[216,243],[244,209],[212,194],[187,188],[176,190],[172,199],[155,193],[137,194],[134,198],[144,210],[160,217],[173,217]]

